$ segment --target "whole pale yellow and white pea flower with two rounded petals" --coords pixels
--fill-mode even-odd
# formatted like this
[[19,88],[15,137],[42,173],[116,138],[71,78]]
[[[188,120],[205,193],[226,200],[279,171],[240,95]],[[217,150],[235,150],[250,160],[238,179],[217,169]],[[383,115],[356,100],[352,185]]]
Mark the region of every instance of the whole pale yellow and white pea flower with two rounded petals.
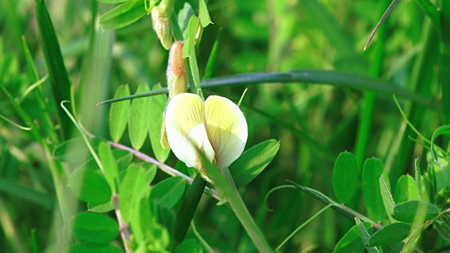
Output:
[[229,167],[243,153],[248,137],[243,112],[221,96],[203,101],[198,95],[179,93],[167,105],[165,126],[176,157],[198,169],[207,181],[198,150],[219,168]]

